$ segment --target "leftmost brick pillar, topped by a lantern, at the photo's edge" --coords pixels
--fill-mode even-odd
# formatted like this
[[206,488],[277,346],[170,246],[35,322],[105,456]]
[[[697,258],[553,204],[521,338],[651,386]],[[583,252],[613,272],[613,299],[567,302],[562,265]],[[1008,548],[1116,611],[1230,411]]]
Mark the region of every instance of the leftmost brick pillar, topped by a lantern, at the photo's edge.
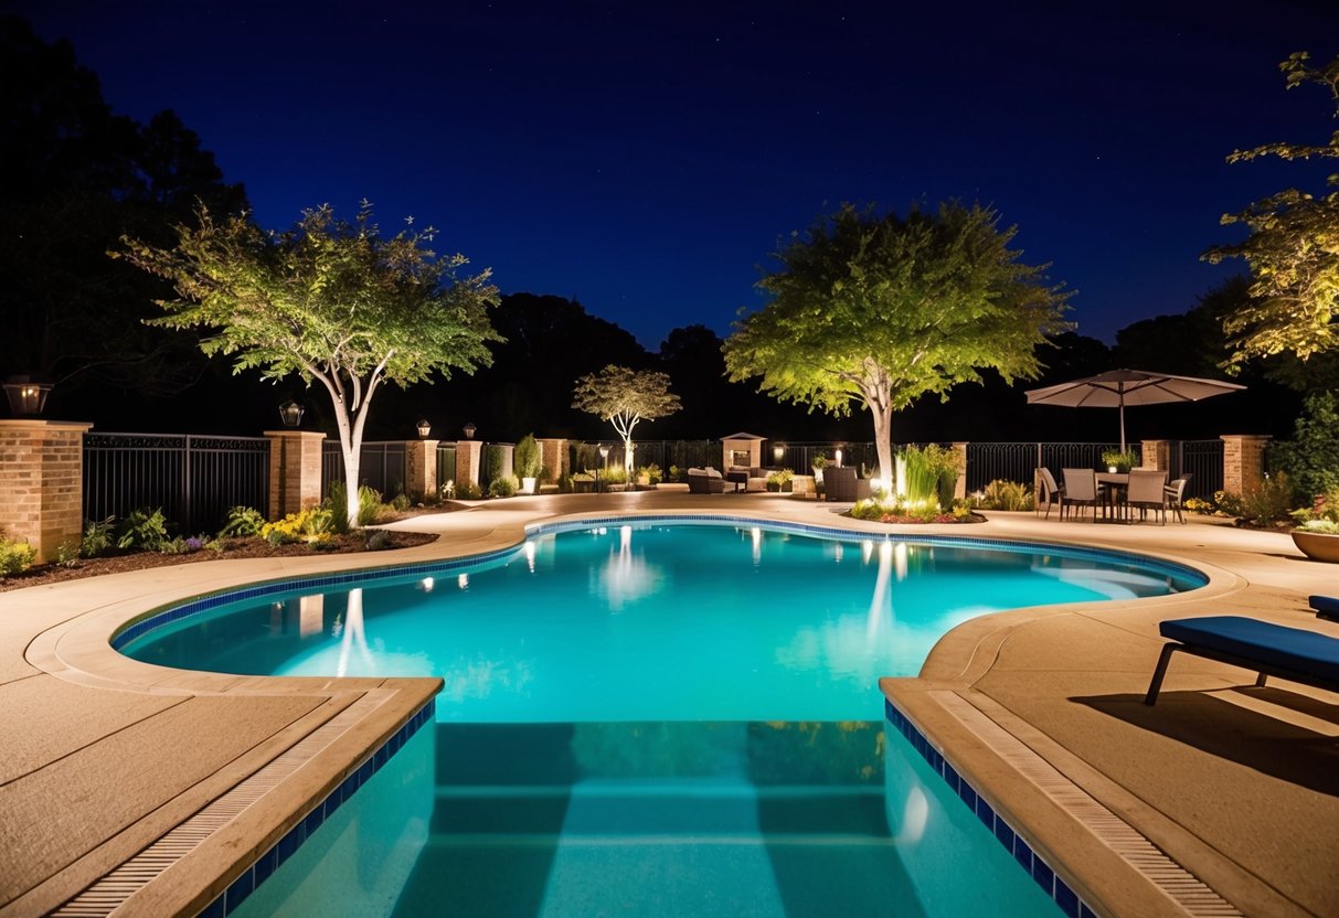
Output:
[[92,424],[0,420],[0,530],[37,562],[83,535],[83,435]]

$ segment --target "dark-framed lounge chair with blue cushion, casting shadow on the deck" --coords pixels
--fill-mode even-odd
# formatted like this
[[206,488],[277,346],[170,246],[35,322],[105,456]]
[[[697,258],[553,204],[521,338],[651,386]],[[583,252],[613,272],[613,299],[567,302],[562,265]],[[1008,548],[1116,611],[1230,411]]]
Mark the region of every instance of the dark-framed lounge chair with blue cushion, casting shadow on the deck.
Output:
[[1256,685],[1267,676],[1339,692],[1339,638],[1284,628],[1241,616],[1174,618],[1158,625],[1162,637],[1177,641],[1162,648],[1144,704],[1156,704],[1168,661],[1177,650],[1253,669]]

